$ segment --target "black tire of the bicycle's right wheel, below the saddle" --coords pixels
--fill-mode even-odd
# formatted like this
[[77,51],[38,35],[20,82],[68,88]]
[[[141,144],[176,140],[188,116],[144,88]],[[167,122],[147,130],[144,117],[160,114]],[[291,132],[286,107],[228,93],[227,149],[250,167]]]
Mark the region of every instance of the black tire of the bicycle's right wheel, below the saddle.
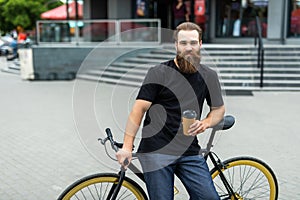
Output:
[[[263,166],[269,172],[269,174],[272,177],[272,180],[275,184],[275,198],[274,198],[274,200],[277,200],[278,193],[279,193],[279,191],[278,191],[279,190],[278,189],[278,182],[277,182],[276,175],[275,175],[274,171],[271,169],[271,167],[268,164],[266,164],[264,161],[262,161],[260,159],[257,159],[257,158],[249,157],[249,156],[240,156],[240,157],[234,157],[234,158],[227,159],[227,160],[223,161],[223,165],[228,166],[228,165],[230,165],[230,163],[234,163],[234,162],[238,162],[238,161],[241,161],[241,162],[251,161],[251,162],[254,162],[254,163],[257,163],[257,164]],[[218,169],[216,167],[214,167],[210,171],[211,175],[213,175],[217,170]]]

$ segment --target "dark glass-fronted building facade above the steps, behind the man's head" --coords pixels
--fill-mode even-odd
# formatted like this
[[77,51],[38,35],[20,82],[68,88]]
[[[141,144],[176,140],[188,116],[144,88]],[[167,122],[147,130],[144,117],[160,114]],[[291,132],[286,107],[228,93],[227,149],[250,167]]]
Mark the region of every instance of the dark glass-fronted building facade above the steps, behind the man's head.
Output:
[[[85,0],[85,19],[159,18],[173,29],[177,0]],[[266,43],[300,44],[300,0],[186,0],[190,21],[199,24],[209,43],[250,43],[255,16]]]

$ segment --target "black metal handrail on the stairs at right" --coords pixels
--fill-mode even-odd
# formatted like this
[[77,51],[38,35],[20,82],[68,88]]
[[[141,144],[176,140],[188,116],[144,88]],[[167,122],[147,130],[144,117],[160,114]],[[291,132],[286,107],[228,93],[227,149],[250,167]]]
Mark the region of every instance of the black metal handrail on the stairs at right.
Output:
[[256,46],[258,40],[257,48],[257,68],[260,68],[260,87],[264,86],[264,43],[262,39],[262,27],[258,16],[256,16],[256,34],[254,44]]

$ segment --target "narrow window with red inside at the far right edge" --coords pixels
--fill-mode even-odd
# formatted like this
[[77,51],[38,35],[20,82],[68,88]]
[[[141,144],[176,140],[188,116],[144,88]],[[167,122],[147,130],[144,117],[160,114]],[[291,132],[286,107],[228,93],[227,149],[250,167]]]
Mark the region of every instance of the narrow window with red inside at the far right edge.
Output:
[[290,36],[300,37],[300,0],[291,0]]

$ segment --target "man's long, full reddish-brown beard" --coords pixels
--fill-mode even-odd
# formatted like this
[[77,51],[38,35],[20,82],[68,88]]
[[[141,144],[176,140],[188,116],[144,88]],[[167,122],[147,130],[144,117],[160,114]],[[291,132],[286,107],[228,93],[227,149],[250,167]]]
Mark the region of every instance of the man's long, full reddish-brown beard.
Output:
[[177,52],[176,61],[180,71],[187,74],[197,72],[200,65],[200,52],[194,53],[190,56],[186,56],[184,53]]

